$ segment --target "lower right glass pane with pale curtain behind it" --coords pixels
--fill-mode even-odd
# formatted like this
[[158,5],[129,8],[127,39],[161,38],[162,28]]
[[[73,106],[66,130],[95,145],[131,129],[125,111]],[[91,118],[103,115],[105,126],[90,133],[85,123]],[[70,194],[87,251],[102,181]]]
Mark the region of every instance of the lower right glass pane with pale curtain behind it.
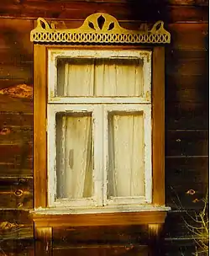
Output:
[[108,197],[143,196],[143,112],[110,113],[108,128]]

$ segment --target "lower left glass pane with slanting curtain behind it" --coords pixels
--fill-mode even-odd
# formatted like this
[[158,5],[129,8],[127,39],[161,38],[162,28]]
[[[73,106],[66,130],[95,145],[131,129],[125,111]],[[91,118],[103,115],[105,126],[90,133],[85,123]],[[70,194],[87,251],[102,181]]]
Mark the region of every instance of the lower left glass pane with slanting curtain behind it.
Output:
[[57,198],[92,196],[92,115],[56,115]]

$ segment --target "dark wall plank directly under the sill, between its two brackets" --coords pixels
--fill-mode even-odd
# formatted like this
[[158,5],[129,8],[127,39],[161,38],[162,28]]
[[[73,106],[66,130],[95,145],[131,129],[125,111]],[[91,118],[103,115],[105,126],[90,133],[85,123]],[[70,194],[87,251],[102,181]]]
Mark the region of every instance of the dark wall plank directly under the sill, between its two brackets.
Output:
[[105,245],[105,244],[139,244],[148,238],[148,227],[70,227],[53,229],[55,247]]

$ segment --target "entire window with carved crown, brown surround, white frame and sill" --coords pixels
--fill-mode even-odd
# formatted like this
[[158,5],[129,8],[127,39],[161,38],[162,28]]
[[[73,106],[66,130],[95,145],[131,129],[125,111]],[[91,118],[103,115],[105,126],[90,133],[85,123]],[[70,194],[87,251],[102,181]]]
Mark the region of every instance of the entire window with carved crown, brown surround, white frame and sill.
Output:
[[170,209],[163,23],[131,31],[94,13],[79,29],[59,30],[38,19],[31,40],[36,229],[151,224],[156,232]]

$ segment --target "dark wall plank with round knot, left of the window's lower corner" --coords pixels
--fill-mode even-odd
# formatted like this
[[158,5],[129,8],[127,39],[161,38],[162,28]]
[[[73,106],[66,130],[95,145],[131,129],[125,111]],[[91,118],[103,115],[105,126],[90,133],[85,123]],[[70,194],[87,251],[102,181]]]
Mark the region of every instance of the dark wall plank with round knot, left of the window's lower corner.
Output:
[[0,178],[0,208],[33,208],[33,179]]

